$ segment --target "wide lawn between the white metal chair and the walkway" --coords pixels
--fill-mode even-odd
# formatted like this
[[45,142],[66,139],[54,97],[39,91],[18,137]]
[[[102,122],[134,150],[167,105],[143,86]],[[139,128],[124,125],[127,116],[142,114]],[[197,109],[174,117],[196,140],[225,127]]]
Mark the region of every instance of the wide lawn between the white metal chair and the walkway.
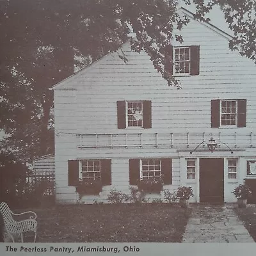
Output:
[[33,209],[38,242],[180,243],[190,209],[167,204],[56,205]]

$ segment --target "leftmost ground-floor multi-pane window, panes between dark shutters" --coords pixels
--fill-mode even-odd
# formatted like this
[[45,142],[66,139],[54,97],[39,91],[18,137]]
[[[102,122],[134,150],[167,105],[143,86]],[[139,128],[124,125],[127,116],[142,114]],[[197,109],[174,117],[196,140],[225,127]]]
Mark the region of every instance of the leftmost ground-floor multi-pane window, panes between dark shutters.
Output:
[[89,181],[100,180],[99,160],[82,161],[82,179]]

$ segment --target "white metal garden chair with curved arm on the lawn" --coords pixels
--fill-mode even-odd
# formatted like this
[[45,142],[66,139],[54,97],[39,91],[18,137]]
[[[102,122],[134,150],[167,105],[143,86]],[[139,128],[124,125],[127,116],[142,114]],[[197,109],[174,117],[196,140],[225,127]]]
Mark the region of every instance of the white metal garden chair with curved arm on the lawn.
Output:
[[19,234],[21,242],[23,243],[23,233],[28,231],[35,232],[34,243],[36,241],[36,213],[35,212],[22,212],[20,214],[13,213],[8,205],[4,202],[0,204],[0,212],[3,216],[4,228],[8,236],[12,238],[13,235]]

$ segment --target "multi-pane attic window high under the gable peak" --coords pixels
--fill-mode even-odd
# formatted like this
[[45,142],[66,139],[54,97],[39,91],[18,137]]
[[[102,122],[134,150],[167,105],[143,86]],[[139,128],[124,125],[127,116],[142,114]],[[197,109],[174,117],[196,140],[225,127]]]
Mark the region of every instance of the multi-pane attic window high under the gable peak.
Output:
[[189,74],[190,72],[190,49],[189,47],[175,48],[175,73]]

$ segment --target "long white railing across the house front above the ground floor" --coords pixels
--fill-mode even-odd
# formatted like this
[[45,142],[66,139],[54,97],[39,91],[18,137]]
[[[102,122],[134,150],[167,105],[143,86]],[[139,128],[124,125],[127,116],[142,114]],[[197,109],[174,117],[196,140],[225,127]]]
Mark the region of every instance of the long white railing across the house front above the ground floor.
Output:
[[[79,148],[195,148],[202,141],[211,137],[218,143],[218,148],[252,148],[256,147],[255,134],[249,132],[155,132],[155,133],[97,133],[77,134]],[[207,143],[207,142],[206,142]],[[204,143],[201,147],[206,147]]]

